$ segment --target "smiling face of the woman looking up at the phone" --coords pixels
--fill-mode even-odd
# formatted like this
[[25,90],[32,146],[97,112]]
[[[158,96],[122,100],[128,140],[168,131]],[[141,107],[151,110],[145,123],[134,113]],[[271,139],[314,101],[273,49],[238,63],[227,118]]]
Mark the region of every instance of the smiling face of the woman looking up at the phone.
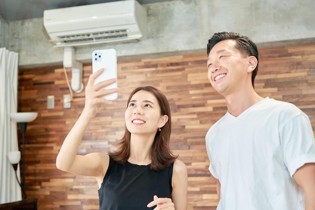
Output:
[[156,133],[167,122],[155,96],[148,91],[138,91],[132,97],[125,112],[125,121],[130,133]]

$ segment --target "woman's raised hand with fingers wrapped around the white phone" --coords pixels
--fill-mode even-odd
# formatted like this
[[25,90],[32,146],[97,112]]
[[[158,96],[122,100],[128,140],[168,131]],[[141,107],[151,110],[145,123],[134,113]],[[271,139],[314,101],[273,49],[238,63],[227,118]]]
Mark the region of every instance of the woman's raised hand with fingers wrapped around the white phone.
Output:
[[94,81],[95,79],[101,75],[101,73],[104,71],[104,68],[101,68],[100,70],[98,70],[97,72],[95,72],[94,74],[90,75],[88,84],[86,86],[86,90],[85,90],[85,95],[86,95],[86,102],[85,102],[85,107],[84,110],[82,112],[82,114],[84,114],[86,117],[90,117],[93,118],[95,117],[98,107],[101,105],[101,103],[105,103],[105,104],[115,104],[116,102],[114,101],[109,101],[106,100],[104,98],[102,98],[102,96],[111,94],[111,93],[115,93],[118,91],[118,88],[114,88],[114,89],[102,89],[110,84],[113,84],[117,81],[117,78],[113,78],[110,80],[106,80],[106,81],[102,81],[99,82],[98,84],[94,85]]

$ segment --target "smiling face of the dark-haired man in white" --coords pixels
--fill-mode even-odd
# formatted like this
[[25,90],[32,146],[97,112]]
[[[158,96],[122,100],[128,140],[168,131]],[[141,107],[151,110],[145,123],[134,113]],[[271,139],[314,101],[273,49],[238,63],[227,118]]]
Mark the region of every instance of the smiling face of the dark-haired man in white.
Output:
[[234,40],[223,40],[211,49],[208,79],[211,86],[224,97],[234,93],[248,80],[249,57],[235,48]]

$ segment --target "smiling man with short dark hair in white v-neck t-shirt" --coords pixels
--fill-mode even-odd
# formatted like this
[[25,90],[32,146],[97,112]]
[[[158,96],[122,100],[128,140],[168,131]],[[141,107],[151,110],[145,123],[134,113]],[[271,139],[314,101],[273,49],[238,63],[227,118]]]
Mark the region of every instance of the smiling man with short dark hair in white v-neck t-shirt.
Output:
[[206,134],[219,210],[314,210],[315,141],[309,118],[254,90],[258,49],[248,37],[215,33],[208,79],[227,113]]

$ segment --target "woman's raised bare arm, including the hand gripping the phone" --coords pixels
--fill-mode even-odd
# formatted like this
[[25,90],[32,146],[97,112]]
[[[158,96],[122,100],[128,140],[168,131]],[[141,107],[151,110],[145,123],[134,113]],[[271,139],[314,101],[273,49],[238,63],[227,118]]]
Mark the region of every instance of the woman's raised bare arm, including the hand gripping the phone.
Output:
[[[85,130],[89,126],[91,119],[96,115],[100,104],[115,103],[102,98],[102,96],[115,93],[118,91],[118,88],[108,90],[103,90],[102,88],[114,83],[117,80],[116,78],[94,85],[95,78],[103,71],[104,69],[100,69],[90,76],[86,86],[86,104],[84,110],[64,139],[58,153],[56,166],[62,171],[83,176],[99,177],[101,167],[105,167],[104,161],[108,160],[109,162],[109,159],[105,158],[107,156],[101,153],[91,153],[85,156],[77,155]],[[104,168],[104,174],[106,170],[107,168]],[[102,175],[102,177],[104,177],[104,175]]]

